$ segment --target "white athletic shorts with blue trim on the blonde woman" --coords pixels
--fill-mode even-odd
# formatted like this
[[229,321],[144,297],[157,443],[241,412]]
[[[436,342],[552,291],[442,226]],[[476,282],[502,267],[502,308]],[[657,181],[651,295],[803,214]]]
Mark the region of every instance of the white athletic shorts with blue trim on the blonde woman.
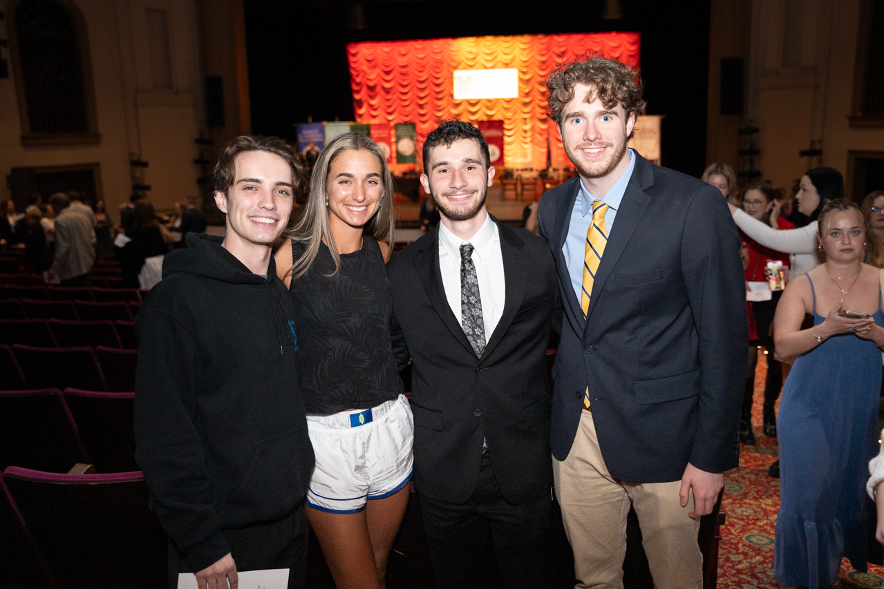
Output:
[[405,395],[363,411],[308,415],[316,466],[307,504],[328,513],[358,513],[411,480],[415,419]]

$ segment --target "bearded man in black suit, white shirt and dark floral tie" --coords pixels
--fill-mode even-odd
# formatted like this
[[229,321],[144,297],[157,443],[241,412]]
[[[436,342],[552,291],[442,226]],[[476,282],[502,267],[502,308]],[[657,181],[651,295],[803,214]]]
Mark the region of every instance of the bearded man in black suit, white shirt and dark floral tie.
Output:
[[506,587],[545,586],[558,302],[545,241],[485,210],[488,146],[448,121],[423,145],[441,223],[392,257],[392,346],[412,362],[415,488],[438,586],[484,587],[489,537]]

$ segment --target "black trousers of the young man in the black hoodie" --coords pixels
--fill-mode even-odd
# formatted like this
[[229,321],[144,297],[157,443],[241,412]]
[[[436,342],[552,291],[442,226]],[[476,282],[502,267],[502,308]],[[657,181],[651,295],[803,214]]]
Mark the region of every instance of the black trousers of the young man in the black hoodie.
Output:
[[[302,589],[307,576],[308,525],[304,504],[263,524],[222,530],[231,546],[236,570],[288,569],[289,589]],[[198,572],[169,541],[169,587],[178,587],[179,572]]]

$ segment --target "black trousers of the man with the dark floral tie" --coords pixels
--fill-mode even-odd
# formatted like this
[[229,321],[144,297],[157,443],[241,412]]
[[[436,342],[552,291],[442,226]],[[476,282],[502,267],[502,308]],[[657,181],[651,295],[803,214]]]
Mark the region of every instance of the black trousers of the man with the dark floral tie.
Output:
[[551,507],[550,495],[509,504],[500,494],[487,453],[468,502],[448,503],[421,495],[423,532],[439,589],[484,587],[488,540],[497,556],[501,585],[507,589],[549,585]]

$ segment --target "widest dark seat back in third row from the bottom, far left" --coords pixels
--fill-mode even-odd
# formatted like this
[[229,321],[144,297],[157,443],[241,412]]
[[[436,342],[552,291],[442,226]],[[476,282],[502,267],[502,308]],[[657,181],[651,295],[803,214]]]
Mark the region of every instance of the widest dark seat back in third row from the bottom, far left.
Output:
[[16,344],[12,353],[30,389],[106,390],[95,351],[88,346],[37,348]]

